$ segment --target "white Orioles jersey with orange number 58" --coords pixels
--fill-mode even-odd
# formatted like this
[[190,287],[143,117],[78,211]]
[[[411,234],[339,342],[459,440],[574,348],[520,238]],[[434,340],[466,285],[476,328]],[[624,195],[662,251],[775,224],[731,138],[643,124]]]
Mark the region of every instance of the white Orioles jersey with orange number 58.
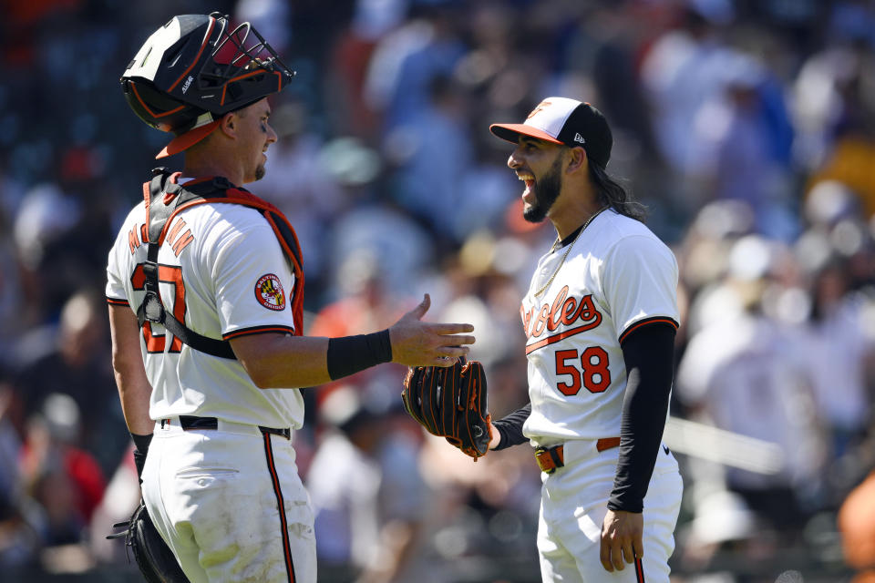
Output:
[[536,446],[620,435],[621,342],[646,323],[679,321],[677,261],[643,223],[605,210],[571,245],[564,262],[567,247],[540,259],[520,309],[531,401],[523,435]]

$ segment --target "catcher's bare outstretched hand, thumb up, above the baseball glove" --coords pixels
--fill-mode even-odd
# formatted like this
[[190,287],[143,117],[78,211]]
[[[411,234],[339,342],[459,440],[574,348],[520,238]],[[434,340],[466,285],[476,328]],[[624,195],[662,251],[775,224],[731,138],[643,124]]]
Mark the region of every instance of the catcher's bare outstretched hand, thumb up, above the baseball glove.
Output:
[[465,344],[473,344],[474,336],[462,335],[462,332],[473,332],[474,326],[422,322],[430,306],[431,298],[426,294],[416,308],[389,328],[393,363],[452,366],[470,351]]

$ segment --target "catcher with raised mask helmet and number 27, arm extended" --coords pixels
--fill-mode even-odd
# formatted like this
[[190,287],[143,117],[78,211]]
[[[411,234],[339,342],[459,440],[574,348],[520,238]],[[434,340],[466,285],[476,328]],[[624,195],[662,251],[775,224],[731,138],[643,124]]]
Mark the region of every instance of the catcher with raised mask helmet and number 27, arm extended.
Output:
[[316,583],[292,445],[304,387],[380,363],[448,365],[438,359],[474,342],[458,335],[470,324],[422,322],[427,295],[380,332],[304,336],[293,225],[242,186],[265,175],[278,139],[268,97],[292,78],[250,23],[220,13],[174,16],[121,77],[134,113],[176,134],[158,157],[182,155],[179,171],[143,183],[108,254],[106,295],[122,412],[135,441],[153,438],[144,504],[192,581]]

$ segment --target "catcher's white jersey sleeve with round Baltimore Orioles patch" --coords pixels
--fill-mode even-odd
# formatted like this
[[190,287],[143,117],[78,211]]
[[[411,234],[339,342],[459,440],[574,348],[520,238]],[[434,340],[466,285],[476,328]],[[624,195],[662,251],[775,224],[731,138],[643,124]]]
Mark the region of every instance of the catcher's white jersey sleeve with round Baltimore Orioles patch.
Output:
[[224,340],[261,333],[293,333],[294,276],[267,221],[239,233],[212,267]]

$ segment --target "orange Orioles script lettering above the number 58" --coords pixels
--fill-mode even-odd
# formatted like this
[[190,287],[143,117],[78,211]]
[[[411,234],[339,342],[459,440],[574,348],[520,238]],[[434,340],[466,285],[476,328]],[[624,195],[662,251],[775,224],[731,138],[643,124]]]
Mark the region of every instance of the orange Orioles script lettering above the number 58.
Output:
[[[543,339],[536,343],[526,345],[526,354],[533,353],[539,348],[543,348],[552,343],[558,343],[565,338],[592,330],[602,323],[602,313],[595,309],[595,304],[592,302],[592,294],[585,295],[580,301],[577,298],[568,297],[568,286],[562,286],[559,294],[551,303],[544,303],[540,306],[537,314],[535,307],[532,306],[529,312],[524,308],[520,308],[522,315],[522,325],[526,329],[526,337]],[[551,334],[559,328],[560,324],[564,326],[572,326],[575,323],[579,325],[573,328],[567,328],[562,332]]]

